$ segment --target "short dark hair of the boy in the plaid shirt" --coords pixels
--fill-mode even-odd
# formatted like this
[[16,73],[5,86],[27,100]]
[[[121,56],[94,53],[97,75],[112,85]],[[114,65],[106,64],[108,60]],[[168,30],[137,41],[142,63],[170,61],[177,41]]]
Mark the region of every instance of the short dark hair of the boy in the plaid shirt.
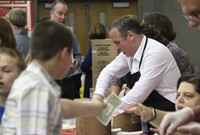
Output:
[[36,25],[31,39],[32,59],[49,60],[67,47],[71,52],[73,39],[71,30],[63,24],[46,20]]

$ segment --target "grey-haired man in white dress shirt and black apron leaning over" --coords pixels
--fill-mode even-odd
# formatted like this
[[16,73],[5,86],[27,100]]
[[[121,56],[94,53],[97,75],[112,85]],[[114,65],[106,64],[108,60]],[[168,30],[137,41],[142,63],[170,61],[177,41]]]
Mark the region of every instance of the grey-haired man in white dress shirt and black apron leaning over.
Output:
[[103,100],[112,81],[130,72],[131,90],[122,98],[117,114],[135,103],[174,110],[180,71],[169,49],[147,38],[133,15],[115,20],[110,26],[109,36],[121,53],[100,73],[92,101]]

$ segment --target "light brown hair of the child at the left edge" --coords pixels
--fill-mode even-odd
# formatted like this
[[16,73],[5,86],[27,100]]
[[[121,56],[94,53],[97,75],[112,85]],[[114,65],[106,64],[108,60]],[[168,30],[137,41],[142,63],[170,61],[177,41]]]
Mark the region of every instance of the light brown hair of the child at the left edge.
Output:
[[16,49],[2,47],[0,48],[0,54],[1,55],[5,54],[5,55],[15,58],[17,60],[16,66],[19,68],[20,71],[23,71],[26,68],[24,58],[22,57],[21,53],[17,51]]

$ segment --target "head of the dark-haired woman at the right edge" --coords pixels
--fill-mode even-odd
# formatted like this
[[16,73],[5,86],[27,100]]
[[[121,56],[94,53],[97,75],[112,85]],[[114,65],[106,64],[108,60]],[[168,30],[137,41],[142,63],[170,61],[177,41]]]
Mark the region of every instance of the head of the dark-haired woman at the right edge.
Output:
[[200,104],[200,76],[184,75],[177,83],[176,110]]

